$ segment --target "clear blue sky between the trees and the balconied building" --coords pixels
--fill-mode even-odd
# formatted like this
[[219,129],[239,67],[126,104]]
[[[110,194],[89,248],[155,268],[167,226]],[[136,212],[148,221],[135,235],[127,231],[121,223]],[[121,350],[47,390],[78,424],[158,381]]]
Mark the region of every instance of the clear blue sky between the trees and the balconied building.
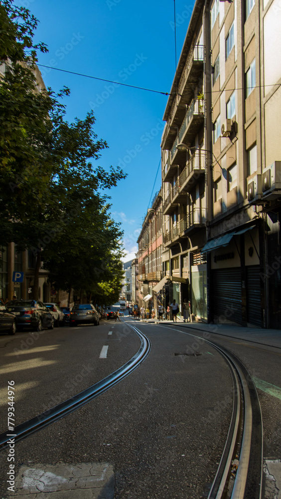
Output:
[[[21,0],[40,21],[35,39],[47,44],[39,63],[169,92],[175,72],[174,1]],[[177,58],[194,1],[175,0]],[[66,118],[94,109],[95,131],[108,142],[94,166],[120,165],[126,180],[110,191],[112,217],[122,223],[127,256],[134,257],[143,218],[161,185],[162,121],[167,96],[39,66],[46,86],[71,89]]]

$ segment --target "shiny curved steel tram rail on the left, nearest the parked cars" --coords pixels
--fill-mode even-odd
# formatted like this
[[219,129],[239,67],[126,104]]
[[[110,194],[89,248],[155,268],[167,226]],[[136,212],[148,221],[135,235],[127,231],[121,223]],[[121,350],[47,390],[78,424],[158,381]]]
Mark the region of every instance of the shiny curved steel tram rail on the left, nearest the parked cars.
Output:
[[[86,388],[82,392],[74,395],[73,397],[61,402],[60,404],[52,407],[51,409],[31,418],[24,423],[21,423],[14,427],[12,436],[14,436],[14,444],[19,441],[39,432],[43,428],[51,425],[55,421],[59,421],[68,414],[76,411],[80,407],[94,400],[95,398],[102,395],[104,392],[115,386],[117,383],[122,381],[126,376],[131,374],[135,369],[139,367],[141,362],[145,360],[151,349],[151,342],[147,336],[145,336],[139,329],[135,326],[130,325],[132,329],[140,337],[140,348],[137,353],[123,366],[109,374],[101,381],[95,383],[94,385]],[[7,435],[8,434],[8,435]],[[11,432],[6,431],[0,434],[0,452],[9,447],[9,441],[11,438]]]

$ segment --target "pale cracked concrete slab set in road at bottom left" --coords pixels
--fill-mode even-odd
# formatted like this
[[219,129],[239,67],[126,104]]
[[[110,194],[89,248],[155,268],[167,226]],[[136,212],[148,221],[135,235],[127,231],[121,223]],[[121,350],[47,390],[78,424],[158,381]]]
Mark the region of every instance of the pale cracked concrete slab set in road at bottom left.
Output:
[[21,466],[15,478],[17,499],[113,499],[113,465],[79,463]]

